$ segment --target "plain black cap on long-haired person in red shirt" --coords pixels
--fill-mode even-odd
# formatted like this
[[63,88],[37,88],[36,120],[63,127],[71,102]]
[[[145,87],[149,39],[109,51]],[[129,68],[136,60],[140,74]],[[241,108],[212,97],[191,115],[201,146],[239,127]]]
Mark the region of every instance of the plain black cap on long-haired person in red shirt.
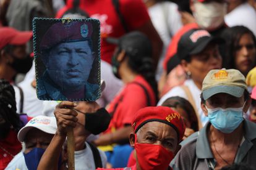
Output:
[[151,42],[148,37],[139,32],[132,31],[130,33],[124,34],[121,38],[107,38],[107,42],[111,44],[116,44],[132,56],[151,56],[152,47]]

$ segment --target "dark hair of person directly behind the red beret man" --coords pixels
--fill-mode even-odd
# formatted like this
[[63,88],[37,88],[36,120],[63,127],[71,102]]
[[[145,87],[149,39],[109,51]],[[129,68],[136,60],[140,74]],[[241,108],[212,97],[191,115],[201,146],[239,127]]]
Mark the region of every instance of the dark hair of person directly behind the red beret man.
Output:
[[189,122],[191,124],[190,128],[193,129],[195,132],[198,131],[197,113],[195,113],[195,110],[189,103],[189,101],[182,97],[175,96],[166,99],[163,102],[162,106],[184,109],[187,113],[187,116],[189,117]]

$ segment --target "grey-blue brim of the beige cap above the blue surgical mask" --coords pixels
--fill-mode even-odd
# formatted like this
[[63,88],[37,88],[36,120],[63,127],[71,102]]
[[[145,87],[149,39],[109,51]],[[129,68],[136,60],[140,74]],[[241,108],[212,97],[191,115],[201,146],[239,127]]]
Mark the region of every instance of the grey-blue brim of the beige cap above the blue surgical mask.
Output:
[[205,89],[202,91],[203,99],[207,100],[211,96],[218,94],[218,93],[226,93],[233,95],[234,97],[241,97],[244,94],[244,88],[237,87],[237,86],[215,86],[210,87],[209,89]]

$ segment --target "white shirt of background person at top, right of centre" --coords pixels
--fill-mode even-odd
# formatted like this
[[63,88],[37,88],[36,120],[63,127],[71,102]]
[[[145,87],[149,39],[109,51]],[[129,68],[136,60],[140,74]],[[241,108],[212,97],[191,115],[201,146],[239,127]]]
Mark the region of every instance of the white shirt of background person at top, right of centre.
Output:
[[163,60],[166,49],[171,38],[182,27],[181,15],[177,10],[177,5],[173,2],[158,2],[148,8],[151,22],[156,28],[161,40],[163,41],[163,51],[158,62],[158,70],[156,71],[156,79],[160,78],[163,71]]

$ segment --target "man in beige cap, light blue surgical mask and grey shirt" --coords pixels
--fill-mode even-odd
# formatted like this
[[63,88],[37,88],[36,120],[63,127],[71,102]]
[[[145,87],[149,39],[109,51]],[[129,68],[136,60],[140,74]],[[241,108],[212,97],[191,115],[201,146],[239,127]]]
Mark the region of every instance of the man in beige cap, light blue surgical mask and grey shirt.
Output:
[[202,86],[201,107],[209,122],[184,140],[174,169],[221,169],[233,163],[255,167],[256,124],[244,119],[251,98],[238,70],[211,70]]

